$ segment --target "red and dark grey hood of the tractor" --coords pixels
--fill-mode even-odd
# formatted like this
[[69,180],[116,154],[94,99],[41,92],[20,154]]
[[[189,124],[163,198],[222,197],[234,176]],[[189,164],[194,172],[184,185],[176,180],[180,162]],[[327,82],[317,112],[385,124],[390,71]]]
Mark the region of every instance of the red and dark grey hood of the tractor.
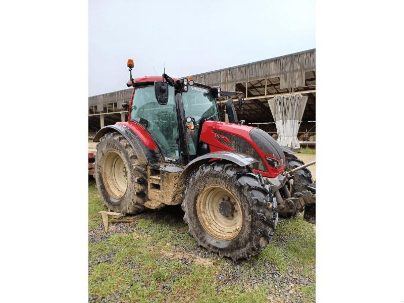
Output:
[[258,160],[252,167],[264,177],[275,178],[284,171],[285,157],[281,146],[257,127],[206,121],[202,126],[200,140],[209,145],[211,152],[232,150]]

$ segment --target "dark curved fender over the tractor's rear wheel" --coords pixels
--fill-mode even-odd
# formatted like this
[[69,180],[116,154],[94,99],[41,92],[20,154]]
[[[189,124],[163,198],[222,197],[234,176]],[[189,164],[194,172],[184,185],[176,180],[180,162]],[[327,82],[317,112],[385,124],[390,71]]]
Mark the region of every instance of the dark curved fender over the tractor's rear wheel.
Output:
[[99,139],[101,137],[110,132],[118,132],[122,134],[135,150],[136,156],[141,163],[148,164],[149,162],[161,161],[160,153],[157,146],[156,149],[146,146],[142,142],[136,131],[125,125],[114,124],[105,126],[95,134],[93,141],[99,142]]

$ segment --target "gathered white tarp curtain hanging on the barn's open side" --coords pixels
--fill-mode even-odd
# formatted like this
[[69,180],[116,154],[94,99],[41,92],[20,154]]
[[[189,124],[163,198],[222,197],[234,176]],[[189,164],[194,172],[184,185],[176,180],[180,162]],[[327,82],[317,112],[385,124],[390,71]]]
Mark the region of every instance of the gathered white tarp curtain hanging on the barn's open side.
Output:
[[278,132],[279,145],[300,148],[297,131],[305,111],[307,98],[301,94],[293,94],[276,96],[268,100]]

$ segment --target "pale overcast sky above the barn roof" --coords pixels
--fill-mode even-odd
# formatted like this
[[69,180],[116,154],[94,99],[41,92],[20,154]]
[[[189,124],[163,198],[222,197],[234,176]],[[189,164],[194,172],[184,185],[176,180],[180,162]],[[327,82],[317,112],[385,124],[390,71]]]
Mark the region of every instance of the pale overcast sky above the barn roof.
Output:
[[[89,0],[89,96],[315,48],[315,1]],[[155,72],[156,70],[156,72]]]

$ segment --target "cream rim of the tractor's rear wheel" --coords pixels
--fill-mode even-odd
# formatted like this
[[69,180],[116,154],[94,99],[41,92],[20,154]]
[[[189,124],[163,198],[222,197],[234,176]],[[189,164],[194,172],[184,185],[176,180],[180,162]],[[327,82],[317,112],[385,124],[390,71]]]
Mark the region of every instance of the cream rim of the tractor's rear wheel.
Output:
[[116,151],[109,151],[103,164],[103,181],[108,193],[119,199],[128,187],[128,175],[125,162]]

